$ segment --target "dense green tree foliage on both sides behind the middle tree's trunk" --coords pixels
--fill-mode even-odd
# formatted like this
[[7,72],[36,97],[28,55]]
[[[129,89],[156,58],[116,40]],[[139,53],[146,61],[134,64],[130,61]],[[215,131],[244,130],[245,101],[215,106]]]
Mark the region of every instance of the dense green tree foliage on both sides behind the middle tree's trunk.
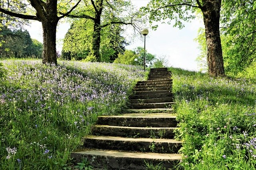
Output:
[[[91,20],[80,18],[75,20],[64,38],[62,48],[63,59],[89,60],[90,47],[92,44],[93,23]],[[119,25],[110,25],[102,28],[100,55],[102,61],[113,62],[118,53],[124,53],[126,42],[125,38],[121,36],[123,32]],[[70,55],[70,56],[69,56]]]

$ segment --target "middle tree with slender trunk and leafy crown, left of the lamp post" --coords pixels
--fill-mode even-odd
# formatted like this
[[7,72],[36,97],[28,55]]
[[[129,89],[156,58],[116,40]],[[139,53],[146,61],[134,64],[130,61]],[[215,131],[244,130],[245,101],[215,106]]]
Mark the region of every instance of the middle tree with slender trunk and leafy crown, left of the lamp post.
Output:
[[[100,55],[101,30],[112,24],[131,25],[140,31],[138,23],[142,22],[138,12],[133,11],[130,1],[125,0],[85,0],[81,8],[77,8],[68,16],[85,18],[93,23],[92,43],[90,47],[91,61],[102,61]],[[125,15],[127,14],[127,16]],[[120,17],[122,16],[122,18]]]

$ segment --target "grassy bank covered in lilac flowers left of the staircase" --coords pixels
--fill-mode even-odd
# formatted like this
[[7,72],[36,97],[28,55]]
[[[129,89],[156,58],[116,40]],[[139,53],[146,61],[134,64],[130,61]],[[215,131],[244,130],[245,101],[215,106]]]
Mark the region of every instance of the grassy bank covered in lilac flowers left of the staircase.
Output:
[[99,115],[120,113],[141,67],[108,63],[3,60],[0,169],[71,169],[70,152]]

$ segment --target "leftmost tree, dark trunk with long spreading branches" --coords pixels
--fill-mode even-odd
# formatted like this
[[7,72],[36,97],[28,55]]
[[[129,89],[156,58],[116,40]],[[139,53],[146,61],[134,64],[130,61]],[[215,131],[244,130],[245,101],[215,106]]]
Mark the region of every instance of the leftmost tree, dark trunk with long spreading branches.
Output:
[[[57,24],[61,18],[64,18],[78,4],[81,0],[74,1],[68,0],[28,0],[34,9],[35,15],[27,15],[24,14],[24,11],[2,8],[0,7],[0,12],[7,14],[9,16],[13,16],[16,18],[22,18],[27,20],[37,20],[42,23],[43,29],[43,55],[42,55],[42,63],[54,63],[57,64],[57,53],[56,53],[56,29]],[[59,3],[58,3],[59,2]],[[74,5],[69,11],[67,11],[67,7],[70,5]],[[26,5],[27,6],[27,5]],[[62,10],[64,13],[62,16],[58,16],[58,12]]]

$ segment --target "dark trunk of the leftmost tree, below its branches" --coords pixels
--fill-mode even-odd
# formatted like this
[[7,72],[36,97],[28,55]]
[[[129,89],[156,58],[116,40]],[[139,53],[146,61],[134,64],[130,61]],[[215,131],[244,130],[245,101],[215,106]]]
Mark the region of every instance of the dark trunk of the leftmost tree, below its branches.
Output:
[[42,63],[57,64],[56,30],[58,22],[42,22],[43,28],[43,56]]

